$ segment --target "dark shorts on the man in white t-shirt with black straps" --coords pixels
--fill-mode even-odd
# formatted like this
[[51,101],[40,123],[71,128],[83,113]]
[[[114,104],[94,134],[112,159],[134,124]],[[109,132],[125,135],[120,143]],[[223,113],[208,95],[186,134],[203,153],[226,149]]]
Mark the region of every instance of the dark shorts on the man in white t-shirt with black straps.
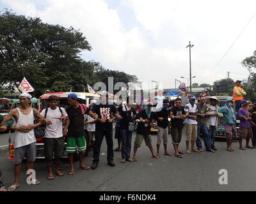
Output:
[[64,154],[65,138],[44,138],[44,156],[47,166],[52,165],[52,157],[60,160]]

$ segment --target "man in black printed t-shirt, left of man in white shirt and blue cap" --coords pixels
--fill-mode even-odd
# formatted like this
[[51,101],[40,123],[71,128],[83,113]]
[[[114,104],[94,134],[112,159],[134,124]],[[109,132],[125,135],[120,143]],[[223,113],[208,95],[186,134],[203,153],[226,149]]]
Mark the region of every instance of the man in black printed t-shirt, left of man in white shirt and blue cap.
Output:
[[184,154],[179,150],[179,143],[181,141],[183,122],[186,119],[184,107],[181,106],[181,99],[175,99],[175,106],[171,108],[171,126],[172,126],[172,144],[175,150],[175,157],[182,158],[180,154]]

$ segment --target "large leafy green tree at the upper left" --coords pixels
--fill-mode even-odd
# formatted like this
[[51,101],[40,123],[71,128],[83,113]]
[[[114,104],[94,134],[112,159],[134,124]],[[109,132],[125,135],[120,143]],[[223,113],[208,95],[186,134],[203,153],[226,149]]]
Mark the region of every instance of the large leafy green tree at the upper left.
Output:
[[73,27],[43,23],[6,10],[0,15],[0,87],[13,91],[26,77],[36,95],[44,89],[67,91],[81,74],[81,50],[90,51],[83,33]]

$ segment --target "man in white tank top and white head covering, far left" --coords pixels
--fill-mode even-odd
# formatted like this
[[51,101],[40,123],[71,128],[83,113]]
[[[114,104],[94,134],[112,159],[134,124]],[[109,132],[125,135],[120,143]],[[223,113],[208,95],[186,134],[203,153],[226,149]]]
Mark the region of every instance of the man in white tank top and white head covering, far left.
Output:
[[[19,178],[22,159],[26,157],[27,169],[29,170],[33,169],[33,162],[36,157],[36,138],[33,129],[42,125],[42,123],[38,122],[34,124],[33,108],[30,106],[31,98],[32,96],[28,93],[20,94],[20,107],[11,110],[1,122],[1,124],[4,124],[6,121],[12,119],[12,117],[17,122],[16,127],[10,128],[16,132],[14,140],[15,182],[9,187],[8,191],[15,191],[15,189],[20,186]],[[34,111],[37,119],[44,119],[38,110],[35,109]],[[39,180],[32,180],[32,184],[39,183]]]

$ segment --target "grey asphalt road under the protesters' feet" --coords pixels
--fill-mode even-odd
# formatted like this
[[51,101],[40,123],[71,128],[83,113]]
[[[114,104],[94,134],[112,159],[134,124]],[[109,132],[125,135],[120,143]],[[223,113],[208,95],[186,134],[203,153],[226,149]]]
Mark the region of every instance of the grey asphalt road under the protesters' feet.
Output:
[[[3,139],[7,135],[0,135]],[[133,136],[134,141],[135,135]],[[180,149],[185,150],[184,136]],[[169,136],[168,149],[173,154]],[[4,139],[3,139],[4,140]],[[1,142],[3,141],[1,140]],[[8,142],[8,140],[6,140]],[[245,142],[245,141],[244,141]],[[156,135],[152,135],[154,148]],[[1,143],[4,145],[6,143]],[[116,140],[114,143],[116,147]],[[133,146],[133,143],[132,143]],[[64,177],[46,179],[46,168],[43,160],[36,160],[36,179],[38,186],[26,184],[26,165],[22,166],[20,187],[17,191],[256,191],[256,149],[238,149],[234,142],[234,152],[227,152],[225,142],[216,142],[215,153],[203,152],[185,154],[182,159],[163,156],[153,159],[148,147],[141,145],[138,150],[138,162],[119,162],[120,152],[115,152],[115,167],[106,163],[106,142],[102,143],[100,163],[97,170],[79,170],[76,163],[75,175],[67,175],[68,161],[63,159],[61,170]],[[154,149],[156,150],[156,149]],[[163,146],[161,146],[163,154]],[[92,152],[90,152],[92,154]],[[0,168],[4,182],[10,186],[13,182],[13,161],[6,159],[8,154],[0,154]],[[92,157],[85,157],[84,163],[92,165]],[[218,180],[221,169],[228,171],[228,184],[220,185]]]

